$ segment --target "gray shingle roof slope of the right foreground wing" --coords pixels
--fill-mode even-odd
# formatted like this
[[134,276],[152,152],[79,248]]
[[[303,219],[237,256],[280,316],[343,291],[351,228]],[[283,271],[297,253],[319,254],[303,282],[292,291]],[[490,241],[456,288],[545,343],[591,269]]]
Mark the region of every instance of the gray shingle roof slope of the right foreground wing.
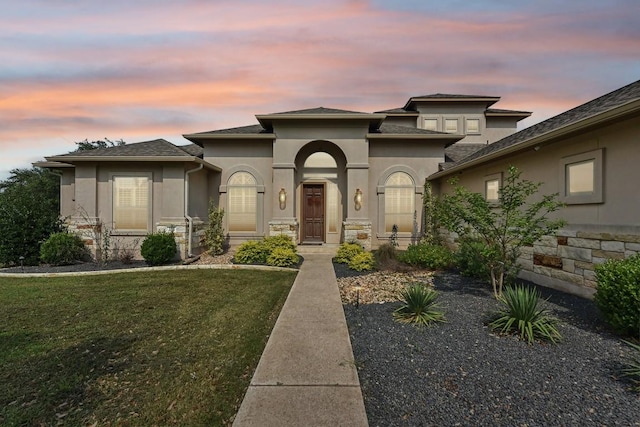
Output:
[[640,80],[523,129],[520,132],[516,132],[513,135],[494,142],[493,144],[489,144],[482,150],[476,151],[475,153],[465,157],[458,163],[458,165],[464,165],[472,160],[479,159],[483,156],[487,156],[513,145],[522,144],[537,136],[552,132],[639,99]]

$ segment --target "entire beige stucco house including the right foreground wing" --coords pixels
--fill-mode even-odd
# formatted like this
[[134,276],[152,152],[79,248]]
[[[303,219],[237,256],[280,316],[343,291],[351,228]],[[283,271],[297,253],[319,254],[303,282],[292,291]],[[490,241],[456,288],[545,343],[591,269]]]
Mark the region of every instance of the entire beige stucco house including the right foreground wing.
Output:
[[[589,296],[594,266],[640,252],[640,81],[516,132],[529,112],[499,97],[432,94],[375,113],[317,107],[257,123],[47,157],[61,175],[61,215],[97,251],[173,230],[183,258],[202,251],[209,202],[231,245],[288,234],[298,244],[376,248],[394,225],[420,237],[426,180],[457,176],[496,198],[510,165],[567,204],[567,226],[525,248],[521,275]],[[108,232],[108,233],[107,233]],[[117,246],[114,245],[114,246]],[[117,248],[116,248],[117,249]]]

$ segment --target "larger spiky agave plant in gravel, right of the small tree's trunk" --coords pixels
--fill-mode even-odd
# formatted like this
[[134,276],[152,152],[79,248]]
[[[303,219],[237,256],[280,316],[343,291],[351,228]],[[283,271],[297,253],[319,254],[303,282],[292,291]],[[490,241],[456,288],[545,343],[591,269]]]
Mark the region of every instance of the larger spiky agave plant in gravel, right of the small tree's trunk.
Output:
[[501,333],[517,332],[520,338],[533,344],[536,339],[557,343],[562,339],[558,321],[540,307],[540,291],[528,286],[508,286],[498,298],[501,308],[489,323]]

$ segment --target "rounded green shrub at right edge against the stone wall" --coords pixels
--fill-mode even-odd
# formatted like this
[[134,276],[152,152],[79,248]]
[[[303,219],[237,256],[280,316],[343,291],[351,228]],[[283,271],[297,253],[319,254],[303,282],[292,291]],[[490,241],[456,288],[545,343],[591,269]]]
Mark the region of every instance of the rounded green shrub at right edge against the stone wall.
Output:
[[622,335],[640,336],[640,254],[596,266],[594,301],[605,321]]

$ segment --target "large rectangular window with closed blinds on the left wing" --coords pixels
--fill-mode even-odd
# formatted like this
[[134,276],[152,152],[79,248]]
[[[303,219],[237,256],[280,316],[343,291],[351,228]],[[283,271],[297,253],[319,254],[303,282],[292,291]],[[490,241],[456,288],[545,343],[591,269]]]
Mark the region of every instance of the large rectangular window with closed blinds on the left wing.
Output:
[[150,176],[113,177],[113,228],[115,230],[149,229],[151,197]]

